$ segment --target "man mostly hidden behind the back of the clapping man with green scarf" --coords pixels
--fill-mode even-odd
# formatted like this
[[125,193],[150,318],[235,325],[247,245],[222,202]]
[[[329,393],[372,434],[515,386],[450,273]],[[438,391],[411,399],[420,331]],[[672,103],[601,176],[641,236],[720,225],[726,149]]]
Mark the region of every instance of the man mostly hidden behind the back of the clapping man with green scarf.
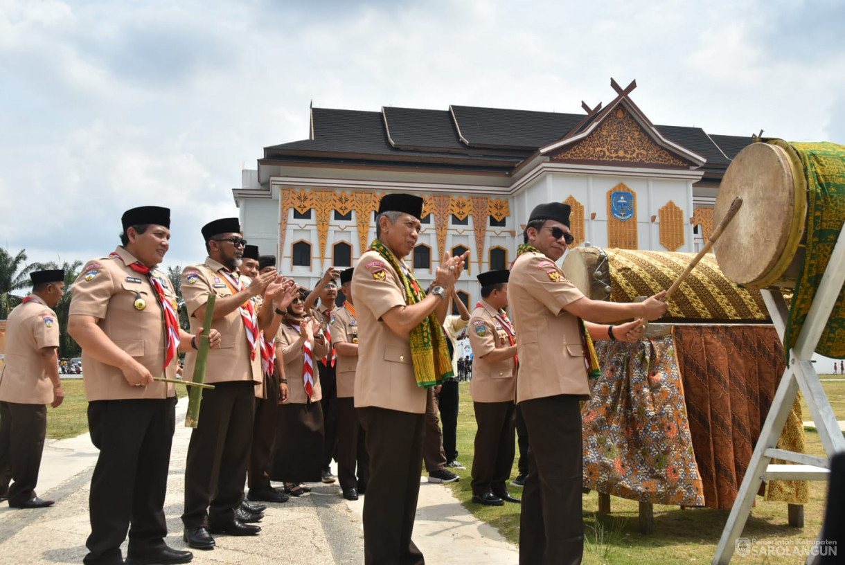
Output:
[[358,321],[352,300],[354,270],[341,271],[346,302],[335,310],[331,323],[331,340],[337,352],[337,479],[346,500],[357,500],[367,490],[369,481],[366,436],[355,412]]

